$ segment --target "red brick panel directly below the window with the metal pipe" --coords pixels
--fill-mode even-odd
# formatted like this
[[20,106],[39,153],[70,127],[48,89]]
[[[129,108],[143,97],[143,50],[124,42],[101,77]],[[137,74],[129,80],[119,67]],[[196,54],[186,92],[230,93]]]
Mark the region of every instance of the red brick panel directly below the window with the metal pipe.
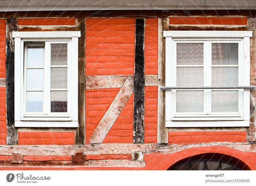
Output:
[[168,143],[185,145],[211,142],[245,142],[245,131],[168,132]]

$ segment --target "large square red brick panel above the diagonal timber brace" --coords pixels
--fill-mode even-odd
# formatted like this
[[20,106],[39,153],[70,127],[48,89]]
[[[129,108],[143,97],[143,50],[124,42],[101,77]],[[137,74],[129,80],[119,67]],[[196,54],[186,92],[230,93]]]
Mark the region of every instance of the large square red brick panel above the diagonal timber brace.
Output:
[[135,19],[86,19],[86,75],[134,73]]

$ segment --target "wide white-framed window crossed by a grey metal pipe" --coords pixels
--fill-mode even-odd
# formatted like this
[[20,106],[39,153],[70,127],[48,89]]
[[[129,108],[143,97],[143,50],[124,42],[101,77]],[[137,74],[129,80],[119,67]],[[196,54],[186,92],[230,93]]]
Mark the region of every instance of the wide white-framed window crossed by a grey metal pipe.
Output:
[[250,31],[164,31],[166,127],[249,126]]

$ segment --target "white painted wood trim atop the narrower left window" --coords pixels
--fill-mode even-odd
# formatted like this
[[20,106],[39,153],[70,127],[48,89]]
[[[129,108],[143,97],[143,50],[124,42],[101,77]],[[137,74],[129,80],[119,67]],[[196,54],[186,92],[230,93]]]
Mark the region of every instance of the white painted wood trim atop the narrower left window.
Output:
[[73,38],[81,37],[80,31],[39,31],[39,32],[12,32],[12,37],[16,38]]

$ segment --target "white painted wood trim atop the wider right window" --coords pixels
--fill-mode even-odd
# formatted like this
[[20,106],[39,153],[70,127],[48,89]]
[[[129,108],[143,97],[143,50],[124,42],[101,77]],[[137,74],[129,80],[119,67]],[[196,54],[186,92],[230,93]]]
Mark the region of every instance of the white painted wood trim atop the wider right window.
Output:
[[252,31],[163,31],[164,37],[172,38],[244,38],[252,37]]

